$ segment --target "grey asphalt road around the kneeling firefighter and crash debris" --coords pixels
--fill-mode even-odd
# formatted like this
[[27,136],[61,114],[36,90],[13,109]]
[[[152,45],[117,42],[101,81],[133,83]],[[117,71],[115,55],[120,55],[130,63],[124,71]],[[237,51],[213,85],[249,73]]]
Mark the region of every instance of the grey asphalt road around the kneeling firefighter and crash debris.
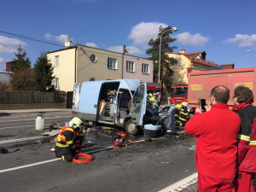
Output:
[[[48,131],[48,124],[63,125],[72,114],[44,116],[44,131]],[[195,173],[195,151],[188,149],[195,138],[183,133],[152,141],[135,137],[131,139],[138,143],[111,148],[111,136],[117,130],[102,127],[86,133],[86,143],[94,144],[83,149],[94,158],[87,164],[56,159],[55,153],[49,152],[55,137],[4,143],[39,137],[44,131],[35,130],[35,118],[32,113],[0,117],[0,146],[20,149],[0,154],[1,191],[159,191]]]

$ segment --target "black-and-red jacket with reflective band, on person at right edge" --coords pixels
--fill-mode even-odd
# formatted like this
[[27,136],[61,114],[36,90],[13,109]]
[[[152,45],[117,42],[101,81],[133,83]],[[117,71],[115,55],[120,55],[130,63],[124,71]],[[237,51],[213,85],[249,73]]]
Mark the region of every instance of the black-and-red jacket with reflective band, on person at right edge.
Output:
[[256,172],[256,108],[243,102],[235,106],[234,111],[241,118],[238,135],[238,170]]

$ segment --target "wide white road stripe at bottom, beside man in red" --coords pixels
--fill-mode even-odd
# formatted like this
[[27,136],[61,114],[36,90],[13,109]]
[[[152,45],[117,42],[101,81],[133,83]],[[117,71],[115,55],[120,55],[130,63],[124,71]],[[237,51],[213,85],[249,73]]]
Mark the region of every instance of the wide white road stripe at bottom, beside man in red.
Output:
[[191,184],[195,184],[197,182],[198,173],[190,175],[189,177],[185,177],[177,183],[173,183],[172,185],[166,187],[165,189],[161,189],[159,192],[177,192],[186,189]]

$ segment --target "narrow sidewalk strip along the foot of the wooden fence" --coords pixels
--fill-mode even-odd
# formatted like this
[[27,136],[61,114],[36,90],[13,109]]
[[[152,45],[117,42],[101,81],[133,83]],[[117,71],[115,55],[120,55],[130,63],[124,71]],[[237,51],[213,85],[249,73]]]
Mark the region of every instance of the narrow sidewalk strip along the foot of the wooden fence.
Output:
[[14,110],[0,110],[0,113],[40,113],[40,112],[55,112],[55,111],[71,112],[72,108],[14,109]]

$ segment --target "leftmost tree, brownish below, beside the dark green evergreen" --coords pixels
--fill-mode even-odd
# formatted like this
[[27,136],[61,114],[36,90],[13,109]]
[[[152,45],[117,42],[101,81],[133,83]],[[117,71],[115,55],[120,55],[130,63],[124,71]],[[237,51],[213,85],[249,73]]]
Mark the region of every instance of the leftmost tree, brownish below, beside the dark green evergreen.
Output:
[[15,54],[15,65],[12,70],[10,83],[13,90],[28,91],[32,89],[32,68],[31,61],[20,46]]

